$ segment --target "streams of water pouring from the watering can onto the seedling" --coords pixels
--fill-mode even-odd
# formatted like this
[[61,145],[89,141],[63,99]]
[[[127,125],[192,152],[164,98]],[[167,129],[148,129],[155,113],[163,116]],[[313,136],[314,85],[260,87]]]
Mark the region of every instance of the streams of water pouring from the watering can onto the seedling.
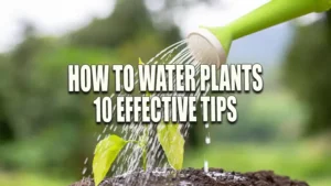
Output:
[[[207,85],[207,91],[201,92],[201,87],[200,87],[200,63],[192,56],[190,53],[190,50],[186,46],[186,41],[181,41],[178,42],[163,51],[161,51],[159,54],[157,54],[154,57],[152,57],[148,63],[148,65],[153,65],[153,64],[181,64],[181,65],[188,65],[188,64],[193,64],[195,66],[195,77],[196,77],[196,91],[195,92],[156,92],[151,96],[157,96],[157,97],[175,97],[175,96],[195,96],[196,100],[201,96],[206,96],[210,89],[210,85]],[[137,64],[138,65],[138,64]],[[173,75],[173,79],[175,77],[175,74]],[[135,74],[135,89],[138,89],[138,72]],[[175,81],[174,81],[175,85]],[[113,94],[110,98],[114,98],[115,96],[130,96],[129,94],[121,91],[120,94]],[[170,107],[171,109],[171,107]],[[113,107],[113,111],[116,110],[116,105]],[[114,113],[114,112],[113,112]],[[171,113],[171,111],[170,111]],[[115,113],[114,113],[115,114]],[[114,116],[113,116],[114,117]],[[141,116],[140,116],[141,118]],[[188,123],[182,123],[181,124],[182,129],[182,134],[184,139],[188,138],[189,133],[189,128],[190,128],[190,122]],[[205,123],[205,131],[207,135],[205,136],[205,144],[209,145],[211,143],[211,136],[209,133],[209,123]],[[152,167],[163,167],[168,168],[169,165],[164,161],[164,154],[161,151],[161,146],[158,142],[157,139],[157,130],[156,130],[156,124],[142,124],[141,122],[139,124],[137,123],[130,123],[130,124],[116,124],[111,123],[110,125],[105,125],[105,129],[100,134],[97,135],[96,141],[100,141],[105,136],[109,134],[118,134],[119,136],[124,138],[125,140],[132,140],[132,141],[138,141],[139,136],[143,133],[146,130],[149,131],[149,140],[148,140],[148,168]],[[126,145],[126,147],[121,151],[119,156],[117,157],[116,162],[111,166],[111,172],[114,175],[120,175],[127,172],[134,172],[141,167],[141,150],[140,147],[137,147],[137,145],[129,143]],[[88,172],[92,172],[92,169],[87,169],[87,163],[88,163],[88,157],[86,157],[84,162],[84,168],[82,171],[82,174],[84,177],[92,177],[92,175],[87,175]],[[209,162],[207,160],[204,160],[204,168],[205,172],[209,171]],[[83,178],[84,178],[83,177]]]

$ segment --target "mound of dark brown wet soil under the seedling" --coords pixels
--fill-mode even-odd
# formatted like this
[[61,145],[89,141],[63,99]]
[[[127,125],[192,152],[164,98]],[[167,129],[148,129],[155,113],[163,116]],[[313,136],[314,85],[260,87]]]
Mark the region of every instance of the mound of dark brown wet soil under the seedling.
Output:
[[[305,182],[291,180],[287,176],[275,175],[271,171],[254,173],[229,173],[220,168],[188,168],[181,172],[171,169],[137,171],[105,179],[99,186],[308,186]],[[95,186],[93,179],[84,179],[71,186]]]

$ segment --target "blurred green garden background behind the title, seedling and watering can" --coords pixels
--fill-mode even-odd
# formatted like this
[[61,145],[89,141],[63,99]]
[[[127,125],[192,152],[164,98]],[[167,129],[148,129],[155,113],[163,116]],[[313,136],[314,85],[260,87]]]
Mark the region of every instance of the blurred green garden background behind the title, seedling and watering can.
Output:
[[[67,92],[68,64],[148,61],[183,39],[179,12],[215,3],[229,12],[229,2],[221,0],[114,2],[109,15],[61,36],[41,34],[33,22],[22,21],[21,42],[0,54],[0,185],[60,186],[82,178],[104,127],[94,122],[93,95]],[[331,185],[331,13],[318,18],[234,43],[228,63],[263,64],[265,89],[236,95],[236,124],[194,125],[185,167],[203,167],[209,160],[211,167],[273,169],[312,186]]]

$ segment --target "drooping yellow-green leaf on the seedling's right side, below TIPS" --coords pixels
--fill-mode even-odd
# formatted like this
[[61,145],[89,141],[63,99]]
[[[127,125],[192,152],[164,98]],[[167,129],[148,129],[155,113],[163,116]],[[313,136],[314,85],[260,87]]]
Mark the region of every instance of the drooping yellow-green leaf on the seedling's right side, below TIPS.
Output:
[[158,124],[158,140],[162,145],[169,164],[174,169],[181,169],[184,157],[184,139],[179,124]]

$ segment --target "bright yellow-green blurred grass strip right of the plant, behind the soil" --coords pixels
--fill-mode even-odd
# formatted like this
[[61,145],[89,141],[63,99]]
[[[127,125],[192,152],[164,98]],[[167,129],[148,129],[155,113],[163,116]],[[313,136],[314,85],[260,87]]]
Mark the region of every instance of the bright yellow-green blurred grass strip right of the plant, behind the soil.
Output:
[[185,157],[185,167],[202,167],[206,158],[210,167],[236,172],[273,169],[312,186],[331,185],[330,156],[313,144],[214,144],[189,151]]

